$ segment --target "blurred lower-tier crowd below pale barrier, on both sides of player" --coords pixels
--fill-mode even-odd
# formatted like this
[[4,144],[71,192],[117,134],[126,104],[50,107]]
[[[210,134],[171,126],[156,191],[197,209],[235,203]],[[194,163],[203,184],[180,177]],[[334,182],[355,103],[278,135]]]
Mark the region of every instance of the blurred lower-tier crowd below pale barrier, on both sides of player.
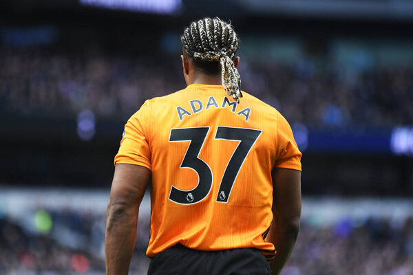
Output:
[[[36,230],[30,230],[29,223],[0,217],[0,274],[105,273],[103,214],[39,211],[32,216]],[[45,213],[52,224],[47,223]],[[43,226],[45,223],[51,226]],[[131,274],[146,274],[148,240],[149,217],[145,217],[138,223]],[[341,219],[330,225],[303,219],[295,250],[282,274],[411,275],[413,217],[403,221]]]

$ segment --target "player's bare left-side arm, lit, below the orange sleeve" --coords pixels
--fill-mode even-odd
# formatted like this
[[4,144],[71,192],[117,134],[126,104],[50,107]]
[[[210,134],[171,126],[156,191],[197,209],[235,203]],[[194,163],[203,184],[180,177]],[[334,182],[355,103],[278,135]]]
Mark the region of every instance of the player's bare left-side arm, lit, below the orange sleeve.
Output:
[[116,164],[106,214],[105,261],[107,275],[127,275],[136,242],[140,201],[151,170]]

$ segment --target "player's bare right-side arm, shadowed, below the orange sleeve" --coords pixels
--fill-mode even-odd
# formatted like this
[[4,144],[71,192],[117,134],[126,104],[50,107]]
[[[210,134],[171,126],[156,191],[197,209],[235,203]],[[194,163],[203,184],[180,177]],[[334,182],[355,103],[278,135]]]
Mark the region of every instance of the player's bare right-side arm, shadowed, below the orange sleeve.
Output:
[[277,254],[271,261],[271,271],[277,275],[288,261],[297,240],[301,215],[301,172],[274,168],[273,223],[267,241],[274,244]]

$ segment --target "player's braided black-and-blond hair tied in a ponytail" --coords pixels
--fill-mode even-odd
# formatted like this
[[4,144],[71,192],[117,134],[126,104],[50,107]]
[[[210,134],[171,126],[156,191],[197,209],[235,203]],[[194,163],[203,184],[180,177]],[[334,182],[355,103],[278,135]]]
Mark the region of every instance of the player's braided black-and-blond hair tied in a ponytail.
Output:
[[209,73],[221,72],[226,94],[239,103],[241,79],[233,63],[239,42],[233,26],[218,17],[206,17],[193,21],[184,30],[181,41],[184,53],[193,58],[195,66]]

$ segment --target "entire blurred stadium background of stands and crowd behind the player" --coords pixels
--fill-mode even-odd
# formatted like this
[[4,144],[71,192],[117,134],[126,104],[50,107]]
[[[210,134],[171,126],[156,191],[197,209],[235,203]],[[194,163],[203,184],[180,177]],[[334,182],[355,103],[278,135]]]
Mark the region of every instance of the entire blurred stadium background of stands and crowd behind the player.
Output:
[[[283,275],[413,274],[412,0],[0,2],[0,274],[105,274],[127,119],[185,87],[180,34],[231,20],[242,89],[290,122],[303,214]],[[149,199],[130,274],[146,274]]]

